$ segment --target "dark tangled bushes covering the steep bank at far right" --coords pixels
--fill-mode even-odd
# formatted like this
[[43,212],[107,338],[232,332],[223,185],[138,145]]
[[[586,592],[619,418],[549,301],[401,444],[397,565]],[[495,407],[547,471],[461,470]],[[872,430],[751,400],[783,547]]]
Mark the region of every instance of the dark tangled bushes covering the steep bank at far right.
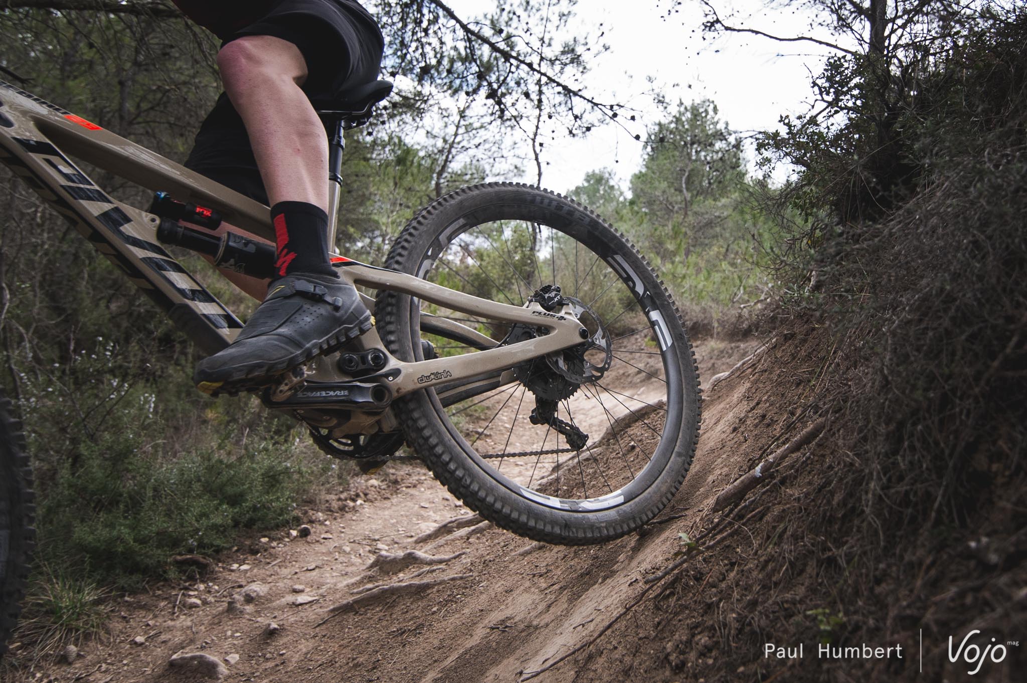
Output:
[[[831,585],[846,638],[941,642],[1017,623],[994,606],[1027,557],[1027,13],[897,4],[883,33],[863,17],[883,42],[830,60],[816,108],[764,139],[800,167],[759,197],[789,281],[778,334],[830,333],[805,406],[831,415],[824,460],[797,473],[781,544],[790,590]],[[881,6],[816,5],[828,24]]]

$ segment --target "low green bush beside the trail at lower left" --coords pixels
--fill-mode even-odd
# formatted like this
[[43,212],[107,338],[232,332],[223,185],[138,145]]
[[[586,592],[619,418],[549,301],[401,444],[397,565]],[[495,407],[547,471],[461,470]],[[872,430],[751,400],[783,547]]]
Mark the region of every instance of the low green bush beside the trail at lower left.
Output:
[[168,576],[175,555],[216,553],[240,529],[287,524],[311,484],[311,467],[281,439],[236,455],[163,453],[147,447],[154,433],[122,428],[81,443],[40,505],[44,557],[122,586]]

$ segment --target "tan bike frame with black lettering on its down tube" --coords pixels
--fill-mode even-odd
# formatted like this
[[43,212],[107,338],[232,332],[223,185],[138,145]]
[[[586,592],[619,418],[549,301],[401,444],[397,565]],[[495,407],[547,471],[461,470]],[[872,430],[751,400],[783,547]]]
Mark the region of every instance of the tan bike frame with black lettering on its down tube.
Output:
[[[215,352],[229,344],[242,324],[159,244],[156,231],[161,219],[112,198],[68,155],[149,190],[163,190],[179,200],[215,208],[226,223],[273,240],[268,207],[0,81],[0,162],[74,224],[201,349]],[[377,331],[372,330],[359,337],[357,344],[385,351],[388,363],[377,376],[387,375],[378,381],[386,384],[393,396],[435,385],[453,386],[460,380],[480,380],[484,374],[581,343],[581,326],[567,307],[553,313],[534,303],[511,306],[384,268],[352,261],[337,265],[340,275],[356,284],[402,292],[451,310],[546,331],[534,339],[491,348],[496,346],[495,340],[478,331],[422,313],[422,321],[430,320],[436,330],[446,329],[458,337],[477,340],[485,350],[405,363],[389,354]],[[311,371],[310,378],[317,381],[350,379],[335,363],[317,361]],[[512,381],[511,375],[504,373],[500,383]]]

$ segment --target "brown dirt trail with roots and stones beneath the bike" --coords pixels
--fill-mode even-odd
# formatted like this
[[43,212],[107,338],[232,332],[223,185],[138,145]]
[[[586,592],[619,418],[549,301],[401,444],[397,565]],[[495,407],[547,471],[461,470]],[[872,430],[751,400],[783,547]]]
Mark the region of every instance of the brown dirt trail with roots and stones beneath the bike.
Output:
[[[755,345],[697,344],[703,378],[731,368]],[[730,445],[747,401],[745,385],[733,381],[708,396],[692,471],[664,515],[698,510],[741,471]],[[595,413],[581,407],[586,428],[599,432],[605,418]],[[290,530],[254,538],[219,558],[204,582],[124,596],[110,642],[83,645],[70,666],[39,665],[27,680],[200,680],[168,667],[181,651],[227,658],[226,681],[517,681],[593,636],[680,547],[674,524],[576,548],[533,543],[488,524],[419,541],[470,511],[416,465],[390,464],[305,516],[305,538]],[[369,569],[379,554],[408,551],[457,557],[391,573]],[[463,578],[440,581],[454,576]],[[356,589],[409,581],[439,582],[412,595],[386,590],[317,625],[332,606],[358,598]],[[277,630],[269,633],[272,622]],[[562,667],[536,680],[573,678],[573,669]],[[611,673],[610,680],[622,678]]]

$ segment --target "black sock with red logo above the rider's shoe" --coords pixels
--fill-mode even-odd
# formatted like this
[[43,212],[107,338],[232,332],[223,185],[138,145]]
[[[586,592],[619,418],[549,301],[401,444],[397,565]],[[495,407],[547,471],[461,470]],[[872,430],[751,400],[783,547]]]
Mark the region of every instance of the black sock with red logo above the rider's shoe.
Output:
[[279,201],[271,206],[274,224],[275,275],[335,275],[328,255],[328,214],[305,201]]

